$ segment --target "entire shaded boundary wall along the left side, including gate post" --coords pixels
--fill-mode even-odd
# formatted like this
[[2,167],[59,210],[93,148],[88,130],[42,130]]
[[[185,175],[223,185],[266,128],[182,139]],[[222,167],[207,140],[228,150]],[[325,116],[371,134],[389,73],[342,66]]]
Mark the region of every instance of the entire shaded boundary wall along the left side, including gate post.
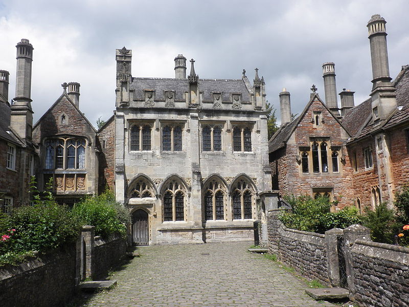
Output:
[[64,306],[78,291],[81,280],[104,277],[126,252],[126,240],[92,236],[83,227],[77,242],[62,251],[29,259],[18,266],[0,267],[0,306]]

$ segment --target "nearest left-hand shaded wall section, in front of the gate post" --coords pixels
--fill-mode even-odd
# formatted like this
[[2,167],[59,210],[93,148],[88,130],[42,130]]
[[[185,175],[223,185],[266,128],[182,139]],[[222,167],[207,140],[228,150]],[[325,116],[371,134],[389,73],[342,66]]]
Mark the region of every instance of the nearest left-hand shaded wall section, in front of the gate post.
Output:
[[0,305],[64,306],[76,290],[75,250],[74,245],[65,252],[0,268]]

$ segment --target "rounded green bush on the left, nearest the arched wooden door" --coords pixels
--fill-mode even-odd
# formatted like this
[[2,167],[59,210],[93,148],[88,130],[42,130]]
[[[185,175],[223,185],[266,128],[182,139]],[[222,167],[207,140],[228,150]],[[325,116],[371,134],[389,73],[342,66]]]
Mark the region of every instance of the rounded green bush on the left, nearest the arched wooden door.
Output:
[[126,237],[126,225],[130,222],[129,213],[115,201],[115,196],[110,191],[75,204],[73,212],[81,217],[83,225],[95,226],[95,235],[108,237],[111,234],[119,234]]

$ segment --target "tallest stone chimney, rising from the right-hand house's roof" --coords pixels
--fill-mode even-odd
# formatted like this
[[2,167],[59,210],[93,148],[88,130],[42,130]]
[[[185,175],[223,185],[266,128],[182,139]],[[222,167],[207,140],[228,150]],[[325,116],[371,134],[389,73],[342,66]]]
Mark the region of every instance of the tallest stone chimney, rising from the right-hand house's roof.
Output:
[[382,122],[396,109],[395,87],[389,75],[387,22],[379,14],[373,15],[368,21],[368,38],[371,47],[372,62],[372,119]]

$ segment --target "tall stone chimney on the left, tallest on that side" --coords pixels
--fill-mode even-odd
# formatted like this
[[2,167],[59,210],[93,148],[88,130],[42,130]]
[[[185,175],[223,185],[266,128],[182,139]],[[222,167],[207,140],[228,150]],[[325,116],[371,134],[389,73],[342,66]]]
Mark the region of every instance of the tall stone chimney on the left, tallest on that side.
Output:
[[33,110],[31,108],[31,63],[33,46],[28,39],[21,39],[17,48],[16,97],[11,106],[10,126],[25,141],[31,141]]

